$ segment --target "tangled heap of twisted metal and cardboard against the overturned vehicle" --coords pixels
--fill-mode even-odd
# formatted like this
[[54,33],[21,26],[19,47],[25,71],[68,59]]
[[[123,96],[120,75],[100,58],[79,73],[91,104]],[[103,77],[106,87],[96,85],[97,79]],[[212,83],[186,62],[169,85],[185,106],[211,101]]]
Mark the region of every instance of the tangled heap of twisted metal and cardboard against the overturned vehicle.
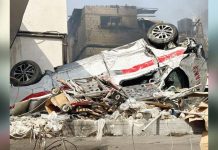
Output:
[[45,104],[48,113],[56,110],[80,119],[99,119],[111,115],[126,100],[117,87],[97,77],[60,82],[65,89],[52,90],[53,96]]

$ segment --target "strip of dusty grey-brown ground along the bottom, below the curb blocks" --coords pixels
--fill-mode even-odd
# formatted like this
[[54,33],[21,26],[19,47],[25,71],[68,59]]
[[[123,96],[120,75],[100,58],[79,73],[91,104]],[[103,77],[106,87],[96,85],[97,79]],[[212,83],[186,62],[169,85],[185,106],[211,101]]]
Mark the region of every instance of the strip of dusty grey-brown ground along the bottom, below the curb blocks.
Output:
[[[78,150],[200,150],[200,135],[175,136],[119,136],[103,137],[96,141],[95,137],[79,138],[67,137],[66,140],[76,145]],[[46,140],[46,146],[60,138]],[[134,142],[133,142],[134,141]],[[33,150],[35,141],[30,143],[29,139],[10,140],[11,150]],[[134,143],[134,144],[133,144]],[[57,143],[56,145],[58,145]],[[69,146],[66,144],[67,147]],[[61,145],[62,146],[62,145]],[[36,149],[39,149],[38,147]],[[55,148],[54,148],[55,149]],[[58,147],[56,150],[63,149]],[[74,150],[74,147],[68,147]]]

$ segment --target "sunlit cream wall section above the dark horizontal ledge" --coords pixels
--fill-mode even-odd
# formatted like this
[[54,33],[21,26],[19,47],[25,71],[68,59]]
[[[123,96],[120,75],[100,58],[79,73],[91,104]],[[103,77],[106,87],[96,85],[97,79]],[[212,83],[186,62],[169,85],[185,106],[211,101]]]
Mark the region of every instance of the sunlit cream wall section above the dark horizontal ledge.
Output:
[[29,0],[20,30],[67,33],[66,0]]

